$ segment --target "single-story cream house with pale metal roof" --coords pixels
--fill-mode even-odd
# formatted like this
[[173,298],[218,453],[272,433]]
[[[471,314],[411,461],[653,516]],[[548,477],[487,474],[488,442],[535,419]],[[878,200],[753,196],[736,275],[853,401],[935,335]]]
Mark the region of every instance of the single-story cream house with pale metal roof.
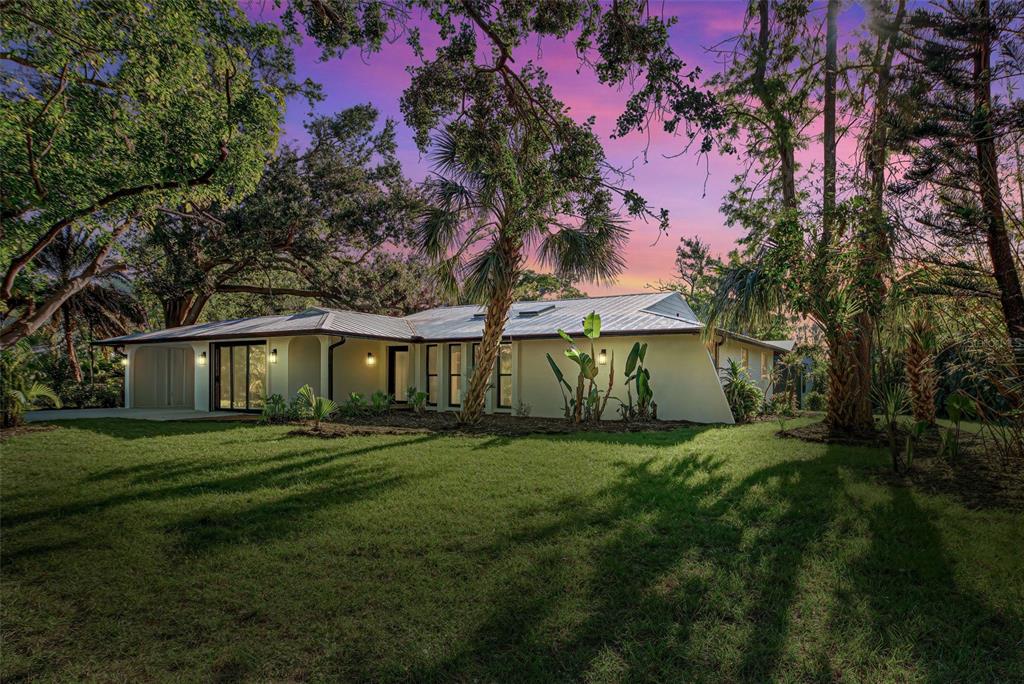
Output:
[[[658,417],[731,423],[716,367],[735,358],[770,389],[778,347],[721,332],[707,343],[702,326],[678,293],[517,302],[505,328],[488,413],[560,417],[562,395],[546,354],[574,378],[564,357],[562,329],[580,343],[583,319],[601,315],[600,386],[614,364],[612,395],[626,398],[623,367],[634,342],[647,342]],[[266,396],[293,396],[309,384],[341,400],[376,391],[406,401],[409,388],[428,395],[436,411],[457,411],[483,330],[480,306],[427,309],[404,317],[313,307],[260,316],[136,333],[98,344],[123,347],[126,408],[258,411]],[[614,418],[615,412],[608,411]]]

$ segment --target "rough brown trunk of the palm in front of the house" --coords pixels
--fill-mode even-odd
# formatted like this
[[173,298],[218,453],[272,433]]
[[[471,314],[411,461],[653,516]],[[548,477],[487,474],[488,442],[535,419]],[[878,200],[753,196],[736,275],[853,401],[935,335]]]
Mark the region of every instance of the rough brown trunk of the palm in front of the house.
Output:
[[515,284],[519,281],[519,264],[522,260],[520,250],[512,240],[507,238],[500,240],[500,249],[508,264],[509,272],[506,273],[508,277],[501,279],[501,283],[496,283],[493,286],[490,299],[487,302],[486,317],[483,319],[483,336],[480,338],[478,356],[475,359],[476,366],[473,369],[473,375],[469,378],[469,387],[466,388],[462,411],[459,413],[459,421],[467,424],[476,423],[483,414],[483,400],[494,374],[495,359],[498,358],[498,347],[502,342],[502,333],[505,332],[505,324],[508,323],[509,311],[515,299]]

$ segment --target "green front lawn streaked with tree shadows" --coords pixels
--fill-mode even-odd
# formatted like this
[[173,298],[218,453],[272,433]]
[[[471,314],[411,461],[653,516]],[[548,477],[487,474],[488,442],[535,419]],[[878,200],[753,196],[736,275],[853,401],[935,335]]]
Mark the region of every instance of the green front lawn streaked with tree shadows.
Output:
[[[799,422],[798,422],[799,423]],[[0,444],[0,679],[992,681],[1024,520],[774,424]]]

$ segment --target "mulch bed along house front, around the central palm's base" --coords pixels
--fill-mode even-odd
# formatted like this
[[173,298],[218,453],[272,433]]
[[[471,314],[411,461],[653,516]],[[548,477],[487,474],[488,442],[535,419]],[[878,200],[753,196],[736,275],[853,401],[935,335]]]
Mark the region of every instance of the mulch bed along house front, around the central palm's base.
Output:
[[382,434],[445,434],[445,435],[490,435],[519,437],[530,434],[570,434],[578,432],[623,433],[623,432],[664,432],[694,425],[687,421],[651,421],[644,423],[624,423],[623,421],[601,421],[599,424],[571,425],[557,418],[530,418],[526,416],[483,416],[475,425],[460,425],[453,414],[411,411],[391,412],[383,416],[360,416],[339,418],[323,423],[321,431],[310,426],[293,430],[289,434],[314,437],[348,437]]

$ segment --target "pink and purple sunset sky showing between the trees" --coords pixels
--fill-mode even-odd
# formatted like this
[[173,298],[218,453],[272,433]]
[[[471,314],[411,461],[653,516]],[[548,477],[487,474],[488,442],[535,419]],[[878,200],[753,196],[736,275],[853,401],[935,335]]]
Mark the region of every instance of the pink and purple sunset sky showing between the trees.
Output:
[[[243,0],[242,5],[254,19],[272,20],[278,14],[272,3],[264,0]],[[664,6],[666,14],[679,17],[679,23],[672,30],[672,43],[680,57],[688,66],[703,68],[706,76],[714,73],[718,67],[706,48],[738,32],[746,3],[670,0]],[[856,24],[860,16],[861,10],[854,6],[847,10],[843,24]],[[427,46],[435,42],[430,35],[431,26],[429,23],[422,25],[423,40]],[[520,59],[532,58],[548,71],[555,95],[570,108],[570,114],[580,120],[590,116],[597,118],[596,131],[604,138],[609,161],[620,167],[633,167],[631,186],[653,207],[664,207],[670,213],[671,230],[656,244],[655,223],[632,221],[628,267],[615,285],[602,288],[582,284],[582,289],[592,294],[638,292],[648,284],[670,279],[674,269],[675,248],[683,236],[699,236],[712,245],[714,251],[722,254],[732,249],[742,231],[725,225],[719,206],[733,175],[740,168],[736,158],[714,153],[708,159],[698,159],[693,154],[669,158],[679,153],[685,138],[654,131],[645,161],[642,158],[645,135],[634,133],[622,139],[608,138],[628,93],[601,86],[588,70],[578,74],[571,44],[546,40],[539,46],[518,52],[517,56]],[[409,85],[406,67],[413,61],[412,51],[400,42],[385,45],[380,53],[367,58],[351,51],[343,58],[326,62],[319,61],[319,50],[310,40],[296,48],[297,76],[300,79],[311,78],[324,87],[326,97],[317,103],[316,114],[331,114],[353,104],[372,102],[382,116],[398,123],[399,157],[404,173],[419,180],[429,171],[429,163],[420,157],[413,143],[412,132],[402,124],[398,110],[401,92]],[[294,100],[289,103],[285,140],[303,144],[306,136],[302,124],[308,114],[304,102]],[[814,159],[820,158],[817,148],[808,154]]]

